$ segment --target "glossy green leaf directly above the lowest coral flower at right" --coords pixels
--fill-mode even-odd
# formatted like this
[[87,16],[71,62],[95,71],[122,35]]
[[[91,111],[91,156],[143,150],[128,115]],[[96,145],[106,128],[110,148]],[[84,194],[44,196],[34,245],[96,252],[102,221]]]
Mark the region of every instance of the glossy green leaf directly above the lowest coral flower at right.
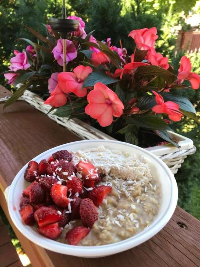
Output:
[[163,96],[164,101],[173,101],[177,103],[181,109],[196,114],[194,106],[186,97],[165,92],[161,93],[161,95]]

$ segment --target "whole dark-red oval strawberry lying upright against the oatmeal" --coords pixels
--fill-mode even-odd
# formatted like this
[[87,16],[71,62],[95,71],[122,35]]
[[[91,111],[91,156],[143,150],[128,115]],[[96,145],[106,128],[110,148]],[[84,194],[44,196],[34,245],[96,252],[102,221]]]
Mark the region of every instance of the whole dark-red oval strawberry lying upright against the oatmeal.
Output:
[[81,199],[80,216],[83,224],[90,228],[98,220],[98,211],[91,199]]

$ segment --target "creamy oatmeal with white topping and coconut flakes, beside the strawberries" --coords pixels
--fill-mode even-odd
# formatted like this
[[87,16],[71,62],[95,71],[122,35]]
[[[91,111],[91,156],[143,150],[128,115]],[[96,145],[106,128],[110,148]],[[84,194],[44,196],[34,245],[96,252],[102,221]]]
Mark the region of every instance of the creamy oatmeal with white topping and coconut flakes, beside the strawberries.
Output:
[[[97,186],[111,186],[112,191],[98,207],[98,220],[79,245],[97,246],[130,238],[147,228],[159,210],[160,189],[143,157],[106,149],[104,146],[71,152],[72,162],[88,160],[102,174]],[[89,188],[90,190],[92,188]],[[65,234],[82,225],[74,220],[65,226]]]

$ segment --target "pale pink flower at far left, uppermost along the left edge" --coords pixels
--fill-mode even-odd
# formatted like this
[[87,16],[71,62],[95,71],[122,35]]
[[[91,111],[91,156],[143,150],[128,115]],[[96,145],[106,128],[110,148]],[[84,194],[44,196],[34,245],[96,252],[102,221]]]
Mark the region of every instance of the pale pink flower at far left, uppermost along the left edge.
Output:
[[12,63],[10,65],[10,69],[13,71],[17,71],[18,69],[28,69],[30,68],[30,64],[28,63],[27,54],[26,52],[20,53],[17,50],[14,50],[15,57],[12,57],[10,59],[10,62]]

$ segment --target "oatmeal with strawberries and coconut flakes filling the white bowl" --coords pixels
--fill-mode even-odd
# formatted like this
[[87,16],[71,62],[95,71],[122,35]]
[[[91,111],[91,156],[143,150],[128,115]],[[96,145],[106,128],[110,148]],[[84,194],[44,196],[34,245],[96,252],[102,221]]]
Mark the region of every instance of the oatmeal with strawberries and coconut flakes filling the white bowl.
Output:
[[29,162],[23,223],[36,222],[45,237],[82,246],[119,242],[149,226],[161,193],[143,157],[104,146],[66,151],[39,165]]

